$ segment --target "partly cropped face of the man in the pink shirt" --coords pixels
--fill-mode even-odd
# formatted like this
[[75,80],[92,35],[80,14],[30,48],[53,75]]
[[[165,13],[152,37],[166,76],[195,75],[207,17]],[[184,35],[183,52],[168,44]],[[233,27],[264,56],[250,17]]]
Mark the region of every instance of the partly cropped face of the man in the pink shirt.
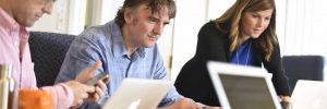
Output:
[[31,27],[44,13],[51,14],[53,0],[15,0],[13,8],[14,20],[24,26]]

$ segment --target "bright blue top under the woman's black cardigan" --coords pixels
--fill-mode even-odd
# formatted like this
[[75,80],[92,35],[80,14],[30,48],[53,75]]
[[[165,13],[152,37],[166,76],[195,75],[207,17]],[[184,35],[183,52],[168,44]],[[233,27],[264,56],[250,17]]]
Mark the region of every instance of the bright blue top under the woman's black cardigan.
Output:
[[242,65],[254,65],[252,39],[245,40],[238,50],[230,55],[231,63]]

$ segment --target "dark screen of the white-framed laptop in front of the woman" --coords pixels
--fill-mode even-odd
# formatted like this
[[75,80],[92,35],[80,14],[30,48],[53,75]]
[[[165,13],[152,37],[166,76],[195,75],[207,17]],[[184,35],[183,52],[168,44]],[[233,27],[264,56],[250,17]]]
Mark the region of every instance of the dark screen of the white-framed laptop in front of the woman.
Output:
[[263,77],[219,74],[231,109],[276,109]]

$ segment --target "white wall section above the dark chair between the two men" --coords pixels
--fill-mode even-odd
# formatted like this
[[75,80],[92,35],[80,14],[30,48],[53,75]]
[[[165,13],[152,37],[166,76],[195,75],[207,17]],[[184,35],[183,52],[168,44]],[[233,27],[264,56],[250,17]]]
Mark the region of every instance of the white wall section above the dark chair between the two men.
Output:
[[57,0],[52,14],[45,14],[31,31],[77,35],[84,29],[86,0]]

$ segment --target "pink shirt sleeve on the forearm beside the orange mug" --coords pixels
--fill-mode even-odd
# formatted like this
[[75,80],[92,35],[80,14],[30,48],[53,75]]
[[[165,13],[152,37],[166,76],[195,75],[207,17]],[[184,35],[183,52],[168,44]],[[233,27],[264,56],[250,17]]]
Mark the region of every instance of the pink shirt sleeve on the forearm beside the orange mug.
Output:
[[68,109],[73,105],[74,95],[70,87],[64,84],[40,87],[52,94],[53,109]]

